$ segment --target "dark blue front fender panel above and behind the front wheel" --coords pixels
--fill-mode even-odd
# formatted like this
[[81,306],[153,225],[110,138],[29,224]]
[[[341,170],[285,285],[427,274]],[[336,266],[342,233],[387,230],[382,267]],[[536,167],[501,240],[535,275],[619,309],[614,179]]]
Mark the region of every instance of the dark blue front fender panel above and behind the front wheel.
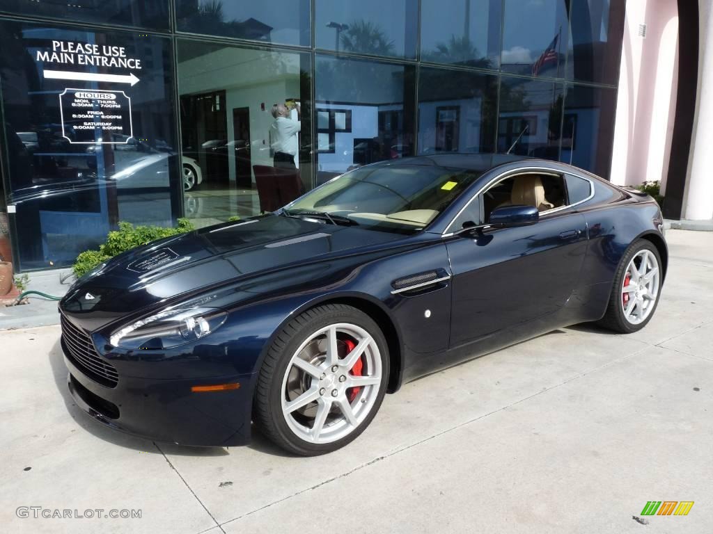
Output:
[[[389,342],[392,369],[391,391],[398,389],[406,367],[428,355],[446,350],[450,333],[451,288],[439,284],[419,295],[391,293],[391,281],[413,273],[444,268],[449,271],[446,247],[441,241],[418,250],[373,258],[366,263],[335,262],[324,268],[305,266],[290,271],[289,286],[284,275],[260,279],[242,287],[253,293],[252,302],[242,300],[230,312],[230,333],[240,347],[237,372],[260,370],[268,347],[290,320],[324,303],[342,302],[361,309],[381,326]],[[236,288],[236,290],[239,290]],[[258,293],[259,292],[259,293]],[[433,310],[424,314],[424,310]]]

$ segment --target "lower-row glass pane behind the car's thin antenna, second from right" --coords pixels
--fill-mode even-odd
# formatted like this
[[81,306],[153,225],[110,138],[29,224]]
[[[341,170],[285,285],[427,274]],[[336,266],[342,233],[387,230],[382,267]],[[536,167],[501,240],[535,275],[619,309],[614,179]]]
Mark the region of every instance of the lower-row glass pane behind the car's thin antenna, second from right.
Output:
[[498,152],[559,159],[562,105],[559,83],[503,76]]

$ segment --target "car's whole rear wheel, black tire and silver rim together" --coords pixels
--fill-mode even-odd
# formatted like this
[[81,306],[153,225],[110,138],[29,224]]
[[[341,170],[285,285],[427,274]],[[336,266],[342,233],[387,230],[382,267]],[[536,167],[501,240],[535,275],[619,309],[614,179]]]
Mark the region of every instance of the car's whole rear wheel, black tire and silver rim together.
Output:
[[624,334],[644,328],[658,305],[662,281],[657,248],[645,239],[635,241],[617,268],[607,312],[600,324]]

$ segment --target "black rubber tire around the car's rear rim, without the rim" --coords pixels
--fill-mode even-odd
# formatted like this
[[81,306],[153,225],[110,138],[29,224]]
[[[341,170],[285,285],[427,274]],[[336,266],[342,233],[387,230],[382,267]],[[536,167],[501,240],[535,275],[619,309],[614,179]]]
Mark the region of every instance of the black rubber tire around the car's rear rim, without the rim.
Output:
[[[658,290],[656,294],[656,300],[654,300],[653,308],[647,317],[638,324],[632,324],[625,317],[624,310],[622,310],[622,288],[626,276],[627,267],[630,261],[637,253],[643,250],[647,250],[656,258],[659,268],[658,276]],[[637,239],[634,241],[627,251],[624,253],[619,266],[614,274],[614,284],[612,286],[612,292],[609,297],[609,303],[607,304],[607,311],[597,324],[608,330],[614,330],[615,332],[622,334],[631,334],[637,332],[644,328],[651,318],[656,313],[656,308],[659,305],[659,300],[661,298],[661,288],[663,284],[663,264],[661,263],[661,256],[656,246],[652,244],[651,241],[647,239]]]

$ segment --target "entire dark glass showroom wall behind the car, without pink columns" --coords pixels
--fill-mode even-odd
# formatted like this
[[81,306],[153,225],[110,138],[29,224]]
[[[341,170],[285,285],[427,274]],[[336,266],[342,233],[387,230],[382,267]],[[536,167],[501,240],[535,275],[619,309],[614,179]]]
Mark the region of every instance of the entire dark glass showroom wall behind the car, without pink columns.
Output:
[[66,266],[120,220],[252,216],[416,153],[511,150],[606,176],[624,12],[624,0],[0,1],[0,256],[9,228],[20,270]]

